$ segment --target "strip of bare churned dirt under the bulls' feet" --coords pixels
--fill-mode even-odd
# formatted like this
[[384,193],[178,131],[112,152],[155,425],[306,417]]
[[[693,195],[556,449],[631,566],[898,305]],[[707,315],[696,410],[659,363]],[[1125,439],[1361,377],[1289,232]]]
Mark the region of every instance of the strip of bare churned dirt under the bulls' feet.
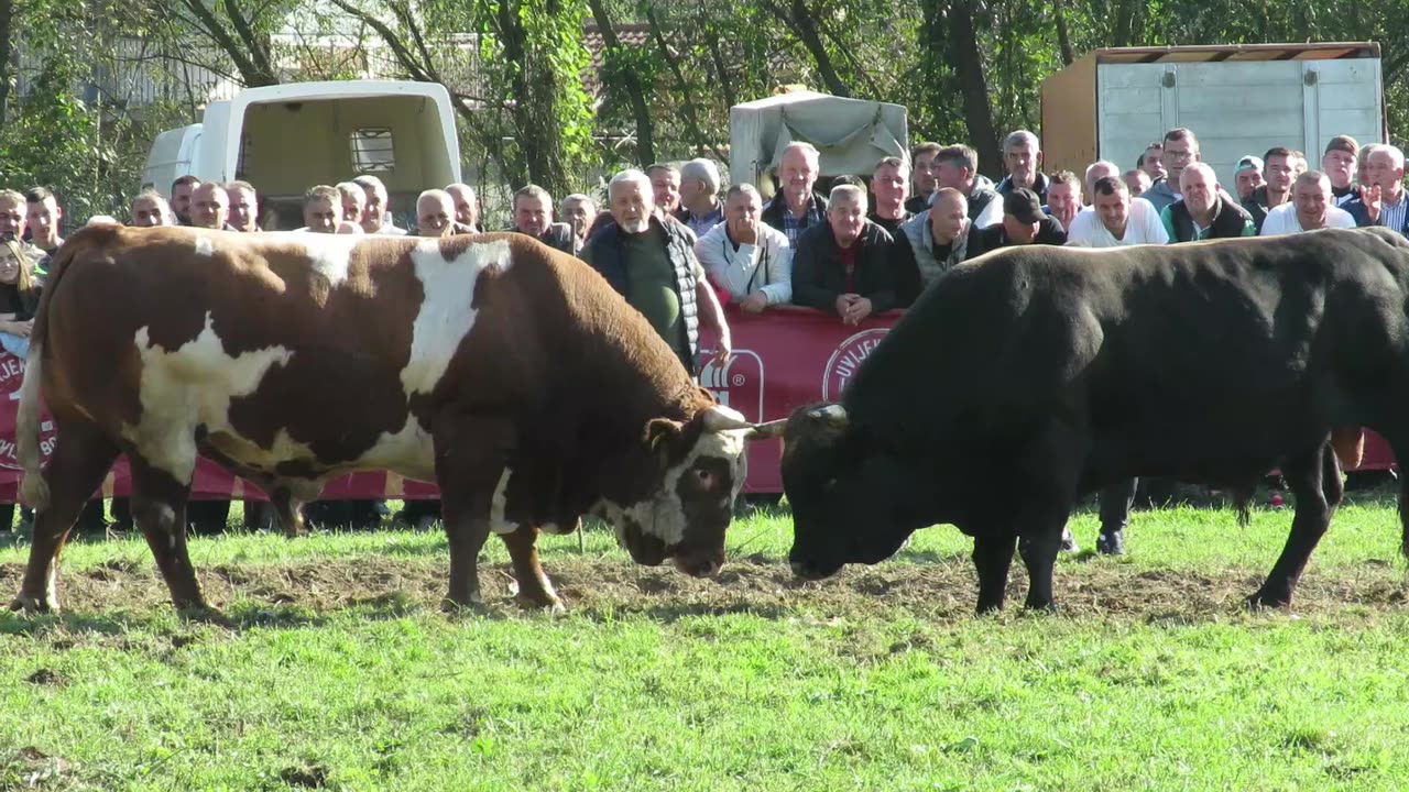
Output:
[[[621,559],[558,558],[545,567],[571,613],[586,617],[640,614],[661,621],[690,616],[754,613],[765,617],[888,617],[927,621],[968,619],[976,586],[967,555],[919,562],[888,562],[847,568],[833,579],[799,582],[772,558],[735,559],[713,579],[685,576],[669,567],[643,568]],[[0,592],[18,589],[24,569],[0,565]],[[416,558],[366,555],[278,565],[218,565],[199,571],[211,603],[240,624],[318,623],[327,614],[355,609],[371,617],[399,617],[440,609],[447,564]],[[1246,613],[1244,598],[1262,581],[1248,569],[1141,571],[1096,559],[1064,559],[1057,572],[1061,613],[1074,619],[1186,624]],[[507,564],[482,564],[480,585],[495,617],[523,617],[513,599]],[[1020,610],[1027,579],[1014,565],[1009,612]],[[1396,565],[1371,564],[1309,572],[1296,592],[1292,613],[1370,619],[1405,607],[1406,581]],[[65,619],[97,617],[110,630],[113,619],[141,617],[169,607],[166,588],[151,564],[104,564],[61,572]],[[13,619],[13,617],[11,617]],[[11,621],[10,631],[15,631]],[[20,627],[20,631],[24,631]],[[179,648],[179,647],[176,647]]]

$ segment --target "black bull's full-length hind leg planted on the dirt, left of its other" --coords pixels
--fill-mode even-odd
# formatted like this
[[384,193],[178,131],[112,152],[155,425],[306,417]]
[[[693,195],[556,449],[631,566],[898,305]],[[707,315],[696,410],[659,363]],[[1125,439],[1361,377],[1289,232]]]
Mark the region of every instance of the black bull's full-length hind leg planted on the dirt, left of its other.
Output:
[[1301,579],[1320,537],[1330,527],[1330,517],[1344,493],[1340,468],[1329,444],[1323,443],[1315,452],[1289,462],[1285,472],[1296,496],[1292,531],[1262,588],[1248,598],[1248,605],[1253,607],[1284,607],[1292,603],[1296,581]]

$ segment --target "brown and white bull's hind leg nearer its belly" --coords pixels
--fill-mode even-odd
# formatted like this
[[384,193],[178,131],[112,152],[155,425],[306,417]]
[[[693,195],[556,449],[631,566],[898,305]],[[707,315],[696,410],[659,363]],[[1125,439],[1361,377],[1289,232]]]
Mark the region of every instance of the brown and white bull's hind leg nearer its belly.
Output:
[[166,471],[130,455],[132,466],[132,520],[147,537],[156,568],[166,581],[172,605],[178,610],[210,610],[196,581],[196,569],[186,548],[186,502],[190,485],[178,482]]

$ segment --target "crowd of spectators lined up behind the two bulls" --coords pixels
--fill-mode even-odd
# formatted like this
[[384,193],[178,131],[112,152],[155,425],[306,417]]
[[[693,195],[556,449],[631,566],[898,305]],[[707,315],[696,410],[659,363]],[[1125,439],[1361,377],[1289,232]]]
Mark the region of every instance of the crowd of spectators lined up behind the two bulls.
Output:
[[[1130,169],[1099,161],[1079,175],[1044,173],[1040,141],[1024,130],[1009,134],[1002,149],[1006,176],[996,185],[978,172],[971,147],[924,142],[909,156],[878,162],[869,183],[833,178],[824,194],[819,151],[796,141],[779,159],[771,200],[751,183],[726,186],[713,161],[690,159],[616,173],[602,211],[588,194],[569,194],[555,207],[547,190],[524,186],[513,194],[507,230],[593,266],[697,373],[702,327],[714,331],[719,354],[730,351],[727,303],[745,313],[805,306],[858,324],[909,306],[955,265],[1010,245],[1102,248],[1409,227],[1403,152],[1361,147],[1346,135],[1330,141],[1319,171],[1309,169],[1302,152],[1282,147],[1243,156],[1231,192],[1202,161],[1199,141],[1186,128],[1151,142]],[[169,194],[137,194],[128,224],[262,230],[259,194],[248,182],[182,176]],[[390,209],[383,182],[362,175],[310,189],[297,230],[420,237],[482,230],[479,200],[464,183],[420,193],[414,228],[397,227]],[[62,217],[48,189],[0,190],[0,235],[25,241],[41,282],[48,256],[63,242]],[[1103,536],[1105,523],[1119,530],[1129,510],[1129,503],[1119,509],[1120,497],[1109,500],[1115,506],[1103,509]],[[327,517],[338,523],[385,514],[379,502],[323,506],[342,509]],[[428,521],[435,506],[413,505],[404,517]],[[223,524],[228,503],[213,509],[209,520]],[[114,517],[123,521],[125,514]]]

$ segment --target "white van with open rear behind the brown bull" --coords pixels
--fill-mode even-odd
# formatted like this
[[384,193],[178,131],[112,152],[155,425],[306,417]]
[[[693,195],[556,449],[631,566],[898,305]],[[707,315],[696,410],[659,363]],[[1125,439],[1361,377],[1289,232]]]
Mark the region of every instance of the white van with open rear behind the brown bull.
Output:
[[[345,80],[247,89],[211,101],[201,123],[168,130],[152,142],[145,183],[169,196],[172,182],[186,173],[203,182],[252,183],[269,230],[303,224],[300,199],[309,187],[359,173],[386,183],[397,217],[414,217],[421,190],[461,180],[455,110],[440,83]],[[404,220],[399,224],[406,227]]]

